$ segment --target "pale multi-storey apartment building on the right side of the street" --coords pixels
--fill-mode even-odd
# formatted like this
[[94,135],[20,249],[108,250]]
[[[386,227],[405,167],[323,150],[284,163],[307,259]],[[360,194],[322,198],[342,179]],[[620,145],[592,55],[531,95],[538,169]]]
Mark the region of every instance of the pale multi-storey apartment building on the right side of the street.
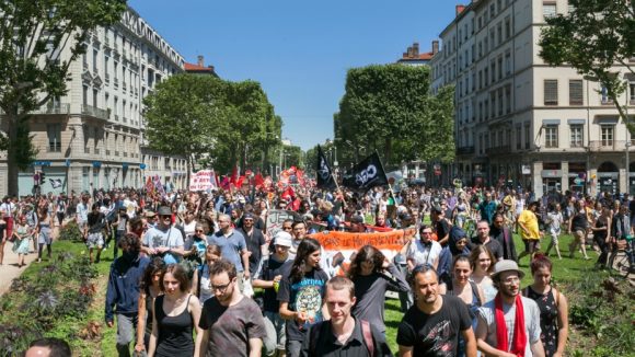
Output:
[[[472,1],[441,32],[431,90],[455,85],[454,173],[464,183],[520,185],[539,196],[635,193],[632,138],[605,91],[539,56],[545,19],[567,11],[566,0]],[[615,70],[628,82],[620,100],[635,113],[635,78]]]

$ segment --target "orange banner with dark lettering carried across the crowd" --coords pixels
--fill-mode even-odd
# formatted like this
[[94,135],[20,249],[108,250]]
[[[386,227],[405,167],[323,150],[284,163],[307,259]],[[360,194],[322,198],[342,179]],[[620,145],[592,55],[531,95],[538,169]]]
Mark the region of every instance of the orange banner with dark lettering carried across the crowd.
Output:
[[316,239],[326,251],[357,251],[368,244],[379,250],[391,250],[396,252],[399,252],[409,238],[414,235],[414,229],[377,233],[324,231],[309,234],[309,237]]

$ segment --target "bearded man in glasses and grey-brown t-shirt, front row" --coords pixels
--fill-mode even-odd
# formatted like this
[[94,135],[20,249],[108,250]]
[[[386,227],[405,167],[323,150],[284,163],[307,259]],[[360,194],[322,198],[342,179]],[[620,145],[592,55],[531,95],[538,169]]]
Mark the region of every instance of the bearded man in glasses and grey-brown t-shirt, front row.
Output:
[[196,356],[258,357],[266,336],[265,322],[254,300],[238,288],[235,265],[224,258],[209,272],[215,296],[203,306]]

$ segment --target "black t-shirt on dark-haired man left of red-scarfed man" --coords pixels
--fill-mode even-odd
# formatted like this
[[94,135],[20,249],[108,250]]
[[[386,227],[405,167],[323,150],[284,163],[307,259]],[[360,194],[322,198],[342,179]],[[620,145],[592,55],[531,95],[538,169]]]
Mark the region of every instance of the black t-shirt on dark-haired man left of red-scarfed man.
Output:
[[412,346],[413,356],[457,356],[459,335],[472,326],[470,311],[459,298],[439,296],[443,306],[434,314],[424,313],[413,306],[397,330],[397,344]]

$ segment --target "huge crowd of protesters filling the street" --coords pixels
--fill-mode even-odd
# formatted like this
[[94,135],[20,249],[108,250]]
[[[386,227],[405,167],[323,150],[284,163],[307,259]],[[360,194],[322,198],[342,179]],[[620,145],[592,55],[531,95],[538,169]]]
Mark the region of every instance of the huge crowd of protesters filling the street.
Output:
[[[589,260],[597,250],[603,268],[635,227],[628,195],[535,199],[511,188],[400,188],[5,197],[0,265],[8,241],[19,266],[32,253],[50,260],[56,234],[76,222],[91,262],[112,254],[105,321],[116,323],[119,356],[131,346],[148,356],[390,356],[388,290],[399,293],[404,313],[401,356],[562,356],[568,308],[551,285],[563,258],[559,237],[574,237],[569,258],[579,250]],[[293,218],[268,231],[274,209]],[[344,276],[308,237],[400,229],[414,232],[400,252],[389,258],[361,246]],[[521,289],[526,257],[534,283]]]

